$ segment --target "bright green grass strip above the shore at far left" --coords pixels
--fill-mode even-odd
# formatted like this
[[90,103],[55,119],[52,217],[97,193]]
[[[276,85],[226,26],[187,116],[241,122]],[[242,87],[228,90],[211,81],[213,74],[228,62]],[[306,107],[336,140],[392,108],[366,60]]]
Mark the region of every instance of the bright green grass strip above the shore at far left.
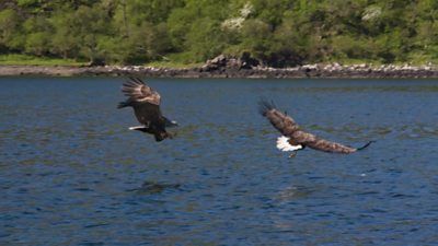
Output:
[[72,59],[34,57],[20,54],[0,55],[0,65],[9,66],[81,66],[85,63]]

